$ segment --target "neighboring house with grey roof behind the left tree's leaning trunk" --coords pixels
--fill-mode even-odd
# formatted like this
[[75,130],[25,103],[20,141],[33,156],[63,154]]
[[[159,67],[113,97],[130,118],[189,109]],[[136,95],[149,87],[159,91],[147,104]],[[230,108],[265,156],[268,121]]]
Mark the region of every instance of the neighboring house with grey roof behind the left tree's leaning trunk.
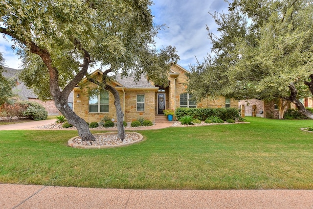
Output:
[[[33,92],[32,89],[27,88],[24,83],[22,83],[19,78],[18,74],[21,70],[6,68],[4,67],[2,75],[6,78],[13,78],[16,81],[16,87],[12,89],[14,94],[17,94],[19,99],[21,100],[28,100],[37,102],[45,107],[45,110],[48,112],[48,115],[60,115],[59,110],[54,105],[53,99],[48,99],[47,101],[41,101],[38,96]],[[72,108],[73,107],[73,92],[68,96],[68,105]]]

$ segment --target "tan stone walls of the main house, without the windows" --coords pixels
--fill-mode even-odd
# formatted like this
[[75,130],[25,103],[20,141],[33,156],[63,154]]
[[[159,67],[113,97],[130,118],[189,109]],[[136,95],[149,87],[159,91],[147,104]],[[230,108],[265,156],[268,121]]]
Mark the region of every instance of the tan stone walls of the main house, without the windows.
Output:
[[[98,74],[96,74],[98,73]],[[96,70],[94,75],[101,76],[101,71]],[[115,89],[118,90],[122,110],[124,112],[124,120],[126,122],[132,122],[139,117],[143,117],[146,120],[155,122],[155,117],[158,115],[158,102],[157,96],[162,93],[165,94],[165,106],[164,109],[176,109],[180,107],[180,94],[186,93],[187,89],[187,70],[183,69],[179,65],[173,65],[171,72],[169,73],[168,87],[155,87],[152,83],[142,84],[147,80],[141,80],[141,84],[134,84],[134,81],[130,78],[128,80],[119,80],[112,83]],[[83,82],[87,82],[86,80]],[[123,84],[124,83],[124,84]],[[89,113],[89,96],[87,93],[88,88],[95,88],[95,84],[86,83],[84,88],[74,88],[74,112],[82,117],[87,122],[99,122],[104,116],[114,119],[116,121],[116,111],[114,106],[114,97],[112,93],[109,93],[109,112],[108,113]],[[79,97],[77,95],[79,94]],[[144,95],[144,111],[137,111],[137,95]],[[125,101],[124,101],[125,98]],[[199,108],[223,108],[225,107],[225,97],[220,96],[215,100],[210,98],[203,99],[197,104]],[[230,107],[238,108],[238,100],[230,99]]]

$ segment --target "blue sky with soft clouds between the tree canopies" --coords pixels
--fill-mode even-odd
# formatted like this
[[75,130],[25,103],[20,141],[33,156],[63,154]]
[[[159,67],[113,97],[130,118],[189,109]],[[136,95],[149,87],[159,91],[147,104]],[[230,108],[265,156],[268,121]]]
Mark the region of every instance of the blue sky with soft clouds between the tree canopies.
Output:
[[[210,13],[227,12],[224,0],[153,0],[151,11],[157,25],[165,24],[155,38],[156,47],[175,46],[180,57],[178,64],[189,69],[196,65],[197,59],[202,62],[211,52],[208,31],[218,34],[216,23]],[[5,66],[13,69],[21,68],[21,61],[11,49],[11,42],[0,36],[0,52],[5,59]],[[196,59],[197,58],[197,59]]]

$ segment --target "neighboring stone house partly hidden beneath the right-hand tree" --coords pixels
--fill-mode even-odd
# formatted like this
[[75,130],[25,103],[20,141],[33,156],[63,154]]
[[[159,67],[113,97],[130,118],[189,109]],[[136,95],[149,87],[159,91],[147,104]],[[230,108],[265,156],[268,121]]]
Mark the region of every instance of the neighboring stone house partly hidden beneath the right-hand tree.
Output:
[[[299,99],[304,107],[313,107],[312,98]],[[245,116],[257,116],[267,118],[279,118],[278,107],[273,100],[265,101],[258,99],[240,100],[239,108],[244,112]],[[287,109],[296,109],[294,104],[290,104],[286,107]],[[243,115],[242,115],[243,116]]]

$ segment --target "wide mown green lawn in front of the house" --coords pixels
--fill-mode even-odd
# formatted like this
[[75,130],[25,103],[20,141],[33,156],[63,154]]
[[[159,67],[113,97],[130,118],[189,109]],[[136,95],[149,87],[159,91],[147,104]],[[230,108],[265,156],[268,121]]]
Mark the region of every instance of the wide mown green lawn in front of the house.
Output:
[[140,189],[313,189],[313,120],[140,131],[145,140],[75,149],[76,131],[0,131],[0,183]]

